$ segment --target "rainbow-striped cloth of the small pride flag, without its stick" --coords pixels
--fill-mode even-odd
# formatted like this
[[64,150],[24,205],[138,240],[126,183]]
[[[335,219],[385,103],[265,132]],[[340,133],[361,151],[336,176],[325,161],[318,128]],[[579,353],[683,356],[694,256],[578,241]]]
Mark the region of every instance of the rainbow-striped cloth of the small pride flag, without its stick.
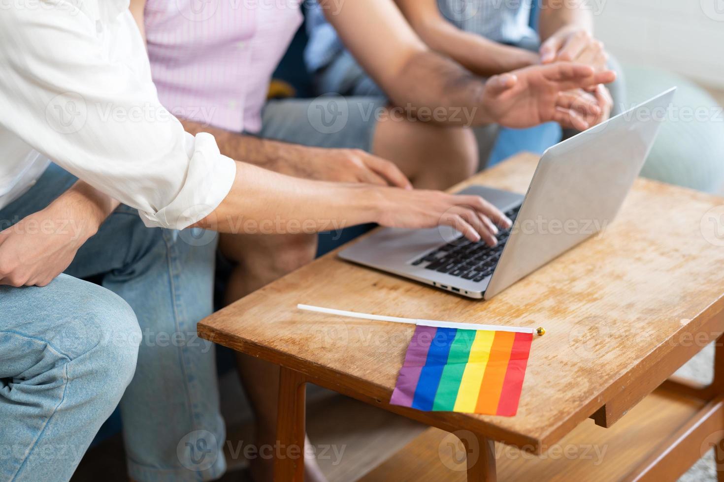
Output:
[[532,333],[418,324],[390,403],[514,416],[532,341]]

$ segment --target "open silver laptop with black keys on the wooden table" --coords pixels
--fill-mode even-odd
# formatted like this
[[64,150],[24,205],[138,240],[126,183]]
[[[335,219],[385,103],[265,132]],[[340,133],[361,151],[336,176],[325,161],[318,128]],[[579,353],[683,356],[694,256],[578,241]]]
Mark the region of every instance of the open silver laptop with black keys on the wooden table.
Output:
[[484,197],[513,220],[497,246],[453,228],[383,228],[340,258],[469,298],[489,299],[605,230],[651,151],[675,87],[543,153],[525,196],[486,186]]

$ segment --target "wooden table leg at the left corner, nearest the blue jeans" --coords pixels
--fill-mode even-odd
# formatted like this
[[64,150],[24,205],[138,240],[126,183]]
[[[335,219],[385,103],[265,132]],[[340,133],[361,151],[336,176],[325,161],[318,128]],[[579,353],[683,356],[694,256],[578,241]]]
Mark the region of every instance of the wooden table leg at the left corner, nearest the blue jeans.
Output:
[[304,481],[306,379],[282,366],[279,372],[277,444],[274,451],[275,481]]

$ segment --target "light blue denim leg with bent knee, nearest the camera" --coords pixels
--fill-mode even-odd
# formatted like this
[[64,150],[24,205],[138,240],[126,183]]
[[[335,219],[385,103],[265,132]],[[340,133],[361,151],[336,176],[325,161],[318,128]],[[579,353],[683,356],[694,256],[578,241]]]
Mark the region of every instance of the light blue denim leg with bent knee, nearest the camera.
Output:
[[0,480],[67,481],[133,376],[135,314],[60,275],[0,286]]

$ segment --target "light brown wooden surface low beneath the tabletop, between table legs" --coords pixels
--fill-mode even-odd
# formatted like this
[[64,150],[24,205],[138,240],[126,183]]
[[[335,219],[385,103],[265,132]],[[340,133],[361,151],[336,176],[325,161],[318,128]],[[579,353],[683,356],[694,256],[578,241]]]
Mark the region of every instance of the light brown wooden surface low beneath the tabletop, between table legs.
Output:
[[[496,444],[497,478],[506,482],[626,480],[656,449],[656,441],[686,427],[687,419],[703,405],[700,400],[654,392],[612,429],[586,421],[549,447],[543,456]],[[458,435],[460,439],[466,437],[464,432]],[[694,460],[701,457],[700,448],[697,444]],[[455,434],[427,429],[359,482],[466,482],[466,455],[473,460],[478,456],[476,451],[466,454]],[[670,462],[678,462],[676,458]],[[675,481],[686,471],[686,468],[672,470],[670,466],[668,469],[649,480]]]

